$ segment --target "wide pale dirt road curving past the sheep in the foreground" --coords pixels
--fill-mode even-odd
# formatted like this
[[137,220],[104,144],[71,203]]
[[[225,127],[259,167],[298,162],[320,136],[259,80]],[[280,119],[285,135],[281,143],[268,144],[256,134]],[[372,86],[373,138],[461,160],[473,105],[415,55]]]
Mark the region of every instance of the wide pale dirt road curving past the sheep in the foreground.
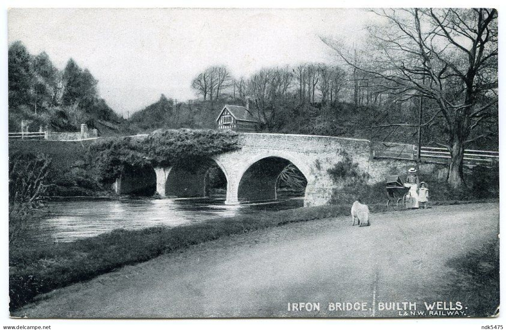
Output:
[[456,290],[448,261],[491,241],[498,215],[497,203],[451,205],[373,214],[370,227],[339,217],[225,237],[56,290],[15,315],[394,317],[399,306],[381,307],[416,302],[428,313],[424,302],[436,301],[452,312],[459,301],[468,315],[472,291]]

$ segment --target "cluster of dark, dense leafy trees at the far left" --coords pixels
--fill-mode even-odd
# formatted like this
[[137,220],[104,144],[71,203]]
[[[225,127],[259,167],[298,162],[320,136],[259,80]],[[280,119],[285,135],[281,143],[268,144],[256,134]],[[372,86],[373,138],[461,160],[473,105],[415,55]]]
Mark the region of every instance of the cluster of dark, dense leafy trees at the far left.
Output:
[[63,70],[48,54],[32,55],[23,43],[9,47],[9,131],[19,132],[21,120],[32,120],[31,131],[49,126],[55,131],[78,131],[95,120],[118,123],[119,117],[102,99],[98,81],[72,58]]

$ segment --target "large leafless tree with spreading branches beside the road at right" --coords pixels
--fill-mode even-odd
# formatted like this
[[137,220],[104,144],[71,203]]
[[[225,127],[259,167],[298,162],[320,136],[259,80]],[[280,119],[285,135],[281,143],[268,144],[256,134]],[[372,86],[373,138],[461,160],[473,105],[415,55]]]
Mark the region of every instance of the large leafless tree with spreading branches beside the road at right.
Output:
[[489,137],[490,133],[475,132],[496,113],[497,11],[403,9],[376,14],[387,25],[370,29],[374,47],[361,52],[369,65],[358,65],[336,43],[324,41],[354,70],[381,79],[388,93],[403,100],[423,97],[435,104],[428,109],[428,122],[442,118],[447,131],[446,143],[439,143],[451,154],[448,183],[465,186],[464,148]]

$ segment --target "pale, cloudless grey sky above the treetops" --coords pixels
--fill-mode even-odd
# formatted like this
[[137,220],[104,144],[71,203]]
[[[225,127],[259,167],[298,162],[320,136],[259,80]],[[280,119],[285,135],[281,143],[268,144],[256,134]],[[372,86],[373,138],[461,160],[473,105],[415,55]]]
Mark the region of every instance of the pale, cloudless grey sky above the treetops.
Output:
[[126,117],[162,93],[195,99],[191,80],[211,65],[247,77],[265,66],[332,63],[320,36],[357,46],[375,20],[364,9],[11,9],[8,38],[60,69],[69,58],[88,68]]

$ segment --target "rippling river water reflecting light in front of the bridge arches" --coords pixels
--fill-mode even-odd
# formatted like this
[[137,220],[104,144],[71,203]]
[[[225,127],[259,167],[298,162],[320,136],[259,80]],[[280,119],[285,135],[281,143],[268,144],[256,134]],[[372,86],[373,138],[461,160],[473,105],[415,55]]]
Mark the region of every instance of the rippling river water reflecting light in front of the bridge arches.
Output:
[[209,198],[65,199],[51,201],[50,213],[38,226],[39,235],[55,242],[96,236],[113,229],[179,226],[262,211],[303,207],[304,198],[225,205]]

